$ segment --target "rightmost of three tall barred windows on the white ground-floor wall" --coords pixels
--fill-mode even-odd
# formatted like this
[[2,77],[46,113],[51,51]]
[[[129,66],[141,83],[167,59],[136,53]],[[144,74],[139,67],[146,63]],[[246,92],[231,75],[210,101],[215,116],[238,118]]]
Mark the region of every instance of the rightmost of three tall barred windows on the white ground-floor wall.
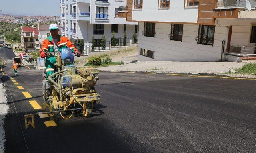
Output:
[[215,26],[199,25],[198,43],[203,45],[212,45],[214,40]]

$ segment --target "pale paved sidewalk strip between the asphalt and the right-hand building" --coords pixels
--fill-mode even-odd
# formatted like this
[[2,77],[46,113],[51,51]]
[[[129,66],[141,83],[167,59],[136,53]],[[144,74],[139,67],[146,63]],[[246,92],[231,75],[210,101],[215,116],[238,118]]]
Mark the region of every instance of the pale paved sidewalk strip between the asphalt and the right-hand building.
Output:
[[[104,71],[138,71],[138,72],[156,72],[156,73],[208,73],[223,74],[231,69],[242,67],[246,63],[255,63],[255,61],[243,62],[172,62],[172,61],[143,61],[134,63],[125,63],[124,65],[115,65],[110,67],[101,67]],[[232,77],[256,78],[255,75],[223,74]]]

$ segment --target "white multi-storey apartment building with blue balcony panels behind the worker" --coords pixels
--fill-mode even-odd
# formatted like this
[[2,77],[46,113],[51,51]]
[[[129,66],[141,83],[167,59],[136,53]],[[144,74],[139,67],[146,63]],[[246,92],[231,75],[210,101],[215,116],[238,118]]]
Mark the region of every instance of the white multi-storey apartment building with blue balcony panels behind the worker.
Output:
[[[87,46],[92,36],[97,44],[106,36],[111,40],[112,31],[116,37],[131,37],[138,32],[138,22],[127,22],[118,17],[120,6],[126,5],[126,0],[61,0],[61,32],[69,39],[82,40]],[[94,51],[95,52],[95,51]],[[88,55],[87,52],[83,54]]]

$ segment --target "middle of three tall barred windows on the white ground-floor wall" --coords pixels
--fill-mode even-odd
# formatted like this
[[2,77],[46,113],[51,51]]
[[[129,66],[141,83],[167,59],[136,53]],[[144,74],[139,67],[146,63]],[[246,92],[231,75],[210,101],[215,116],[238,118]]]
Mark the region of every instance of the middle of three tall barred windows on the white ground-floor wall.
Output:
[[172,24],[170,40],[182,41],[183,24]]

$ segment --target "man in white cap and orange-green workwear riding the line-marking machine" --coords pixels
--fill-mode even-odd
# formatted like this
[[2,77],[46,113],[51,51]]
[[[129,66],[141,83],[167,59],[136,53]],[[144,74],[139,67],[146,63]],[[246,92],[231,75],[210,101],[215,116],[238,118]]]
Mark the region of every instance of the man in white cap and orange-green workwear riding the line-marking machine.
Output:
[[51,24],[49,30],[51,35],[43,41],[40,49],[41,58],[46,57],[46,80],[48,80],[49,75],[54,73],[54,64],[56,63],[56,58],[52,54],[48,54],[47,56],[46,52],[61,52],[62,48],[68,47],[77,57],[81,55],[68,37],[58,34],[59,29],[57,24]]

